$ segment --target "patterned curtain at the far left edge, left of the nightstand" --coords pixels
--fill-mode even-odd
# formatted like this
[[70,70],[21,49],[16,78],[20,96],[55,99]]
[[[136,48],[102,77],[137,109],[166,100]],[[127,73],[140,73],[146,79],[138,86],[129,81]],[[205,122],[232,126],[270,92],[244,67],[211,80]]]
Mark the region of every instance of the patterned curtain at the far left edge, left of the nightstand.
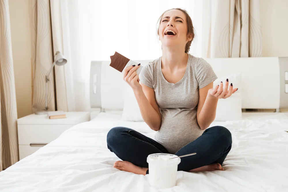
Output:
[[0,1],[0,171],[18,157],[17,108],[8,0]]

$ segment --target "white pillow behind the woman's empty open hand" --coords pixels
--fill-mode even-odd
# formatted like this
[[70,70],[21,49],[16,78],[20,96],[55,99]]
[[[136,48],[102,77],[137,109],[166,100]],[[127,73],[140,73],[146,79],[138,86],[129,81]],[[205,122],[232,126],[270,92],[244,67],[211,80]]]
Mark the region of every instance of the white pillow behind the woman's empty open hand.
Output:
[[[227,99],[219,99],[216,109],[215,121],[234,121],[242,119],[242,96],[241,96],[241,73],[219,77],[213,83],[214,86],[219,85],[222,81],[229,80],[229,84],[233,84],[233,89],[238,90]],[[225,84],[224,84],[225,85]],[[230,85],[229,85],[230,87]]]

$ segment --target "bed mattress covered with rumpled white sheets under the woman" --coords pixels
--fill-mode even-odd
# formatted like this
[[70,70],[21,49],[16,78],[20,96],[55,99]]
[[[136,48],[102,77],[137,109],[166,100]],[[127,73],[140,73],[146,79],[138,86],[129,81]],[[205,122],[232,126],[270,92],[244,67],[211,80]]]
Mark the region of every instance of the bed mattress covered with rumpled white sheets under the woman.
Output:
[[225,171],[177,172],[177,185],[156,190],[146,176],[113,168],[107,132],[116,126],[153,137],[144,122],[121,121],[121,113],[100,113],[66,130],[48,145],[0,172],[0,191],[287,191],[288,117],[244,113],[239,121],[213,122],[232,134]]

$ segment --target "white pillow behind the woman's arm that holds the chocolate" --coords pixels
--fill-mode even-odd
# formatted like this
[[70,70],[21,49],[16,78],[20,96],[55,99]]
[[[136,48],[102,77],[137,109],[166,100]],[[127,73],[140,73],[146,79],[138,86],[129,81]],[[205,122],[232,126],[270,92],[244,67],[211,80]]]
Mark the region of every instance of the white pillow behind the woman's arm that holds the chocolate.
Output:
[[125,83],[122,121],[144,121],[132,88]]

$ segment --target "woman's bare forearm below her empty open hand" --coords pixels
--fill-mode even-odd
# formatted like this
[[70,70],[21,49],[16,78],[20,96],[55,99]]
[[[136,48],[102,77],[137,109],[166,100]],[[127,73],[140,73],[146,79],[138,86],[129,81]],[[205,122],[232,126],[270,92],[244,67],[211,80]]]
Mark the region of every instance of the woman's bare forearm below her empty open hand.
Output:
[[200,129],[207,129],[210,124],[214,121],[216,116],[216,108],[217,108],[218,98],[208,94],[204,105],[197,115],[197,121]]

